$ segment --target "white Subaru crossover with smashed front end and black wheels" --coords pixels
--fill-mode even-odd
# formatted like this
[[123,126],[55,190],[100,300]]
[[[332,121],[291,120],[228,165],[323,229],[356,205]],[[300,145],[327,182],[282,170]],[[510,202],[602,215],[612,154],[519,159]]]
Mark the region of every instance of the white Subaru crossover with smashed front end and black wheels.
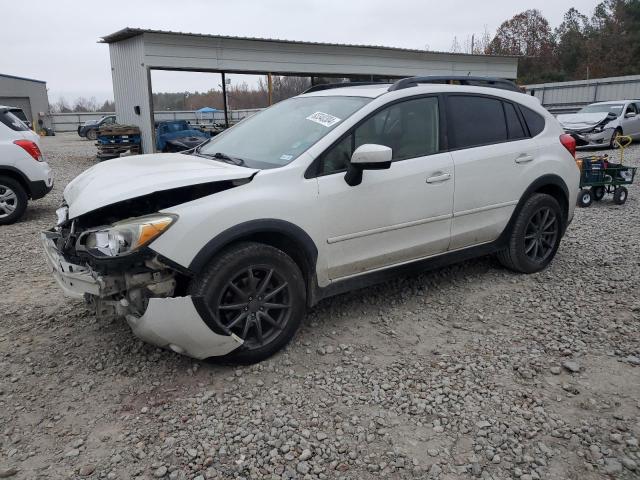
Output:
[[330,87],[78,176],[43,232],[58,283],[147,342],[255,362],[320,299],[391,274],[553,259],[579,170],[535,98],[428,77]]

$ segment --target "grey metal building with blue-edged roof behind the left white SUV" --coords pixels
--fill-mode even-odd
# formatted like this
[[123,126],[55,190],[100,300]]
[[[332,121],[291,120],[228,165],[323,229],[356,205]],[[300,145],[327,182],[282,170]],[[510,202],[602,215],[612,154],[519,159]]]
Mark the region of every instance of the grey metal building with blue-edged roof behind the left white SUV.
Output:
[[47,83],[42,80],[0,73],[0,105],[21,108],[34,127],[38,119],[49,126]]

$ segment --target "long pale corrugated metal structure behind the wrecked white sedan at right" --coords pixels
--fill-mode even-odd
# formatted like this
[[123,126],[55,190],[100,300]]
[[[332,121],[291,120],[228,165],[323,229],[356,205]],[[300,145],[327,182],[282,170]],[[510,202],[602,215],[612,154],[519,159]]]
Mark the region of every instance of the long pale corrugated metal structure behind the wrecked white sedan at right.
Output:
[[595,102],[640,99],[640,75],[527,85],[552,113],[571,113]]

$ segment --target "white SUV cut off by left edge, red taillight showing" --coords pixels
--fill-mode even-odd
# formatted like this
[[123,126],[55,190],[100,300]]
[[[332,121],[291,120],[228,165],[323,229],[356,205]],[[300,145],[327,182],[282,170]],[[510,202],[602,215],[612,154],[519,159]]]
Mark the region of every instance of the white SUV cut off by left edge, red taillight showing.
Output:
[[51,168],[40,152],[40,137],[0,105],[0,225],[18,220],[27,201],[53,188]]

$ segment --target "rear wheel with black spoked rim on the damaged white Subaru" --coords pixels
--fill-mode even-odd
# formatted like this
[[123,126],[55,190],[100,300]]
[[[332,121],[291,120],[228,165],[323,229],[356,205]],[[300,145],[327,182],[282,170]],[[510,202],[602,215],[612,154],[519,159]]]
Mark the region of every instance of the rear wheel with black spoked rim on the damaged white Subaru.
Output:
[[502,265],[521,273],[543,270],[555,257],[563,228],[563,214],[551,195],[536,193],[518,213],[508,246],[498,253]]

